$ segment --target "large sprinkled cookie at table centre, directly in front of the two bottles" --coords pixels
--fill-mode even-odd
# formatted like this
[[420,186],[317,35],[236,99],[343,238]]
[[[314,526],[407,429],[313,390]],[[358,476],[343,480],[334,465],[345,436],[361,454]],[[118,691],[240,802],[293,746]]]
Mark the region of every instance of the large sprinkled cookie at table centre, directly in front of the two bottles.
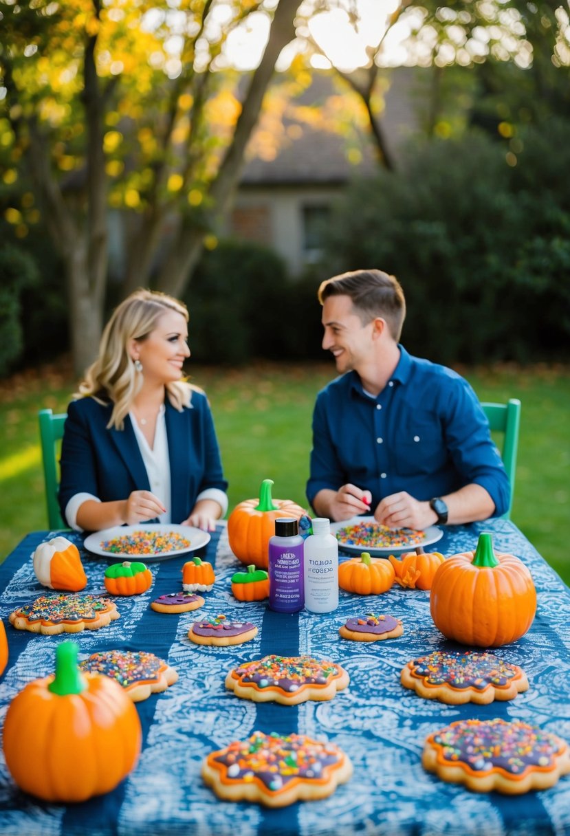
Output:
[[226,688],[244,700],[296,706],[307,700],[332,700],[349,681],[347,671],[336,662],[269,655],[230,670]]

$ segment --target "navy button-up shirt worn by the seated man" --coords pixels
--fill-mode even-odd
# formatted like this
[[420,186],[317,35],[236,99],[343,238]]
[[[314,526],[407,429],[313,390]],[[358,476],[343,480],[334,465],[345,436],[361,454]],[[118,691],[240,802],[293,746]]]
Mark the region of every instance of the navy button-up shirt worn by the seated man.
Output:
[[400,361],[377,397],[355,371],[329,383],[313,412],[313,450],[307,498],[351,482],[383,497],[406,491],[420,501],[481,485],[505,513],[510,487],[489,423],[461,375],[412,357]]

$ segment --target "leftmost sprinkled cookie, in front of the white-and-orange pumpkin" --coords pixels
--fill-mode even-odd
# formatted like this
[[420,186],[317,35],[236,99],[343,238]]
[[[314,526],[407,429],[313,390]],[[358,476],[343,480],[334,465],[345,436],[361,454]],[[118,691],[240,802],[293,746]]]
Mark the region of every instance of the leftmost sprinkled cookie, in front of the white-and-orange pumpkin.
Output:
[[118,618],[117,607],[108,598],[64,593],[40,595],[9,615],[16,630],[44,635],[99,630]]

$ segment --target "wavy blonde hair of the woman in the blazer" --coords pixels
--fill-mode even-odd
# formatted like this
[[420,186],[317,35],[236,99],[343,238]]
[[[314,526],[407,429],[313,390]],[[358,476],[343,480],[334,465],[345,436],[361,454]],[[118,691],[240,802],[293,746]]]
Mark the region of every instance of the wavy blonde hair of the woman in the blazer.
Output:
[[[131,339],[146,339],[166,311],[181,314],[188,322],[188,310],[184,303],[152,290],[136,290],[115,308],[105,325],[99,343],[99,357],[85,372],[74,397],[92,396],[99,403],[113,403],[113,412],[107,428],[124,429],[125,415],[139,393],[142,374],[135,369],[127,346]],[[190,406],[192,387],[184,380],[166,384],[170,403],[179,412]]]

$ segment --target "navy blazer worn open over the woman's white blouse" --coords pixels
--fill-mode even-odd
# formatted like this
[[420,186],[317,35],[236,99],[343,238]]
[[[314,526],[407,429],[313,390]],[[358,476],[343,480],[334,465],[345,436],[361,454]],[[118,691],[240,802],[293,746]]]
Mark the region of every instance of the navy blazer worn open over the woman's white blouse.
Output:
[[[127,499],[132,491],[150,491],[130,416],[125,429],[107,429],[113,406],[94,398],[69,404],[61,448],[59,507],[76,493],[92,493],[101,502]],[[182,523],[196,497],[209,487],[226,491],[220,449],[206,395],[192,390],[191,406],[176,410],[165,398],[166,436],[170,459],[170,520]]]

